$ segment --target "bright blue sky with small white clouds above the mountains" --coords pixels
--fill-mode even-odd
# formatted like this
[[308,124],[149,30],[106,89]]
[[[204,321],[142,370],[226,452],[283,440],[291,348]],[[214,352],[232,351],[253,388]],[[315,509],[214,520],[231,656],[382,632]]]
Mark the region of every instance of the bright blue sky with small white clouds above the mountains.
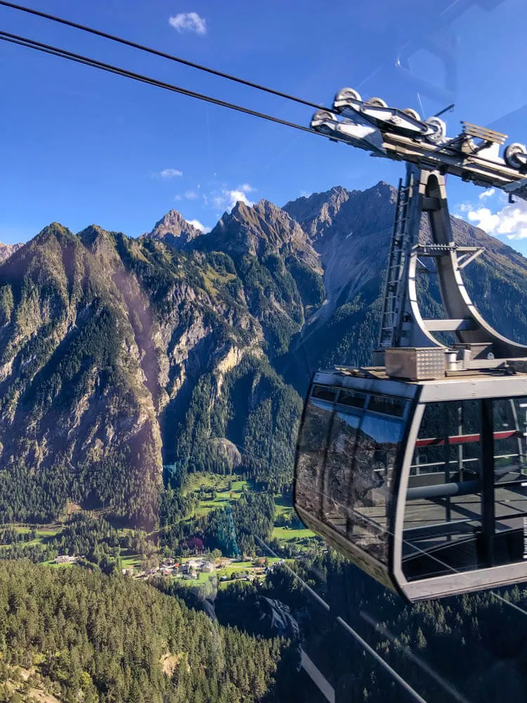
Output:
[[[486,6],[495,5],[493,9]],[[32,6],[331,104],[343,86],[527,141],[523,0],[33,0]],[[308,124],[312,110],[0,7],[4,30]],[[431,28],[436,33],[430,36]],[[442,47],[442,61],[427,43]],[[448,51],[445,47],[448,46]],[[396,67],[397,58],[405,70]],[[405,61],[408,60],[408,63]],[[236,198],[278,205],[335,185],[397,183],[401,164],[0,43],[0,240],[49,222],[138,236],[169,209],[214,226]],[[419,78],[421,83],[419,83]],[[425,80],[427,85],[423,86]],[[448,180],[450,208],[527,254],[527,207]],[[509,239],[509,238],[513,239]]]

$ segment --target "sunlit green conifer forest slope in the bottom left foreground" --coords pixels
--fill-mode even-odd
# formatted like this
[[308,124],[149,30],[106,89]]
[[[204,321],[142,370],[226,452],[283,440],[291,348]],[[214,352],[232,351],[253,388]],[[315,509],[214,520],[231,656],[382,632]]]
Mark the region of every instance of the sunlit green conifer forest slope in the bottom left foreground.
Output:
[[0,614],[7,701],[18,688],[67,702],[250,703],[273,688],[289,647],[212,624],[140,581],[27,561],[0,564]]

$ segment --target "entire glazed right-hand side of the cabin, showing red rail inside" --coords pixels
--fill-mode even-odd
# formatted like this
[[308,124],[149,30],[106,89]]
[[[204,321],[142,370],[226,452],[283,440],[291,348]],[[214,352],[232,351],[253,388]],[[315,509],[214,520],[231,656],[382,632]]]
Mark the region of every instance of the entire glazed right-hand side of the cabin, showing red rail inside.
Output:
[[[426,406],[405,509],[403,569],[409,579],[527,555],[526,427],[523,398]],[[492,477],[485,489],[486,472]]]

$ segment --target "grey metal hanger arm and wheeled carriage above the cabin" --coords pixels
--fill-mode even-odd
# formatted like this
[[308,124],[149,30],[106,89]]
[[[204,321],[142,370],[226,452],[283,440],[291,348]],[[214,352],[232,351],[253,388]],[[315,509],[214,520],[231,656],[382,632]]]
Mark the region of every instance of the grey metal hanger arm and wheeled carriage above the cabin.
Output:
[[[439,117],[421,120],[415,110],[389,108],[381,98],[364,102],[350,88],[337,93],[333,107],[334,112],[315,112],[311,127],[372,156],[407,164],[397,194],[376,363],[386,365],[391,377],[413,380],[476,368],[514,368],[515,361],[527,357],[527,346],[500,335],[471,302],[461,272],[483,247],[455,243],[445,176],[500,188],[509,200],[513,193],[527,199],[527,148],[509,144],[502,158],[505,134],[462,122],[462,132],[448,138]],[[429,219],[429,243],[419,243],[423,213]],[[437,274],[441,319],[421,314],[420,273]],[[453,333],[455,342],[442,342],[436,333]]]

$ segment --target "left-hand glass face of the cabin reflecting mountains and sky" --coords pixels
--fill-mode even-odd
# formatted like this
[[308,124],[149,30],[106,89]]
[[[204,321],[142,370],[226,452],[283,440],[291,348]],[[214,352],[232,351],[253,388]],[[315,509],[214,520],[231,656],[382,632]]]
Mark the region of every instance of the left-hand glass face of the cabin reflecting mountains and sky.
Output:
[[340,389],[336,401],[328,402],[335,395],[321,386],[311,392],[301,430],[297,503],[386,564],[390,489],[404,431],[399,418],[408,401]]

